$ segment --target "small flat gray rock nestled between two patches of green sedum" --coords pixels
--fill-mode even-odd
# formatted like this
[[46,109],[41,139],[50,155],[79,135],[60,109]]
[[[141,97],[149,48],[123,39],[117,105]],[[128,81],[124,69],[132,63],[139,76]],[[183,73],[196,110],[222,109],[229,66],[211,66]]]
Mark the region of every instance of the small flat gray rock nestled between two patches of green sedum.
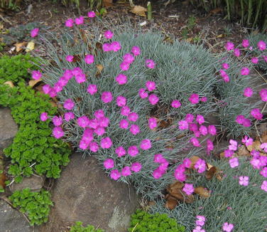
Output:
[[43,182],[45,181],[44,176],[30,176],[30,177],[23,177],[21,183],[15,183],[11,184],[9,186],[10,191],[14,192],[16,190],[22,190],[22,189],[31,189],[31,191],[40,191],[43,187]]

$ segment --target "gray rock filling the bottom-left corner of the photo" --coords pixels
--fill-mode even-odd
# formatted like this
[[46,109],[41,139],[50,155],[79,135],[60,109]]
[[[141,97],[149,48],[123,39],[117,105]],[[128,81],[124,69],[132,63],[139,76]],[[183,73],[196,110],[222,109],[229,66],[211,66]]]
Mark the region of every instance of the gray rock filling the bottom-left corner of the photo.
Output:
[[22,213],[13,209],[6,201],[0,200],[0,231],[1,232],[32,232]]

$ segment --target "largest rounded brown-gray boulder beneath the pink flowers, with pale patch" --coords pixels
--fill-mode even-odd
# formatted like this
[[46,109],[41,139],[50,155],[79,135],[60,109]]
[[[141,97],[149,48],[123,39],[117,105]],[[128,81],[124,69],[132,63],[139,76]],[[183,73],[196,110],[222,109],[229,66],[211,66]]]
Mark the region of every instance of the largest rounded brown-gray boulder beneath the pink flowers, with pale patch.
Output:
[[49,222],[42,232],[64,231],[64,225],[67,228],[75,221],[105,232],[126,232],[131,213],[138,207],[138,196],[131,186],[111,180],[97,159],[82,159],[81,154],[74,154],[62,171],[53,201]]

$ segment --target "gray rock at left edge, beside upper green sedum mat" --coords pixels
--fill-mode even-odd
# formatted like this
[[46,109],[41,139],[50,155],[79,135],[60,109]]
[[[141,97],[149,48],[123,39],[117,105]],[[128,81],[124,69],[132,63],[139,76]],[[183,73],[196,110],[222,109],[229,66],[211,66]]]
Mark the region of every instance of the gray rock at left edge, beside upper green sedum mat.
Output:
[[9,147],[18,132],[18,126],[11,116],[9,108],[0,108],[0,154]]

